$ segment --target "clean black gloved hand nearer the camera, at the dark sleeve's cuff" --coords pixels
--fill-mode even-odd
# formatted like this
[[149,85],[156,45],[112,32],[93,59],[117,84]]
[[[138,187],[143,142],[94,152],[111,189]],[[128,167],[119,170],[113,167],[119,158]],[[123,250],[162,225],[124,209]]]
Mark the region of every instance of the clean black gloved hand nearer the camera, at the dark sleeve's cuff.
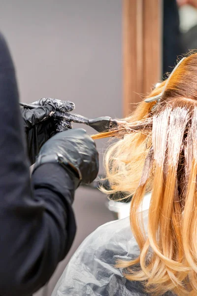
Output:
[[92,183],[99,171],[99,153],[84,129],[56,134],[40,149],[34,170],[43,163],[59,163],[75,176],[75,188],[82,181]]

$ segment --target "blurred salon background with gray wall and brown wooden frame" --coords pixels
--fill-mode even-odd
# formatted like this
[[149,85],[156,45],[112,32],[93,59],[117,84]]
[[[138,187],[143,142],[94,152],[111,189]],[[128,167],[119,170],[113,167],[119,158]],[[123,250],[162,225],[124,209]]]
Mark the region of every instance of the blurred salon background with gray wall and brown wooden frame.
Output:
[[[197,48],[195,0],[0,0],[0,7],[20,100],[70,100],[76,113],[90,118],[128,115],[140,95],[172,70],[177,56]],[[106,146],[107,141],[97,141],[100,174]],[[74,244],[36,296],[50,296],[84,238],[129,215],[129,203],[108,204],[98,189],[80,187],[74,211]]]

